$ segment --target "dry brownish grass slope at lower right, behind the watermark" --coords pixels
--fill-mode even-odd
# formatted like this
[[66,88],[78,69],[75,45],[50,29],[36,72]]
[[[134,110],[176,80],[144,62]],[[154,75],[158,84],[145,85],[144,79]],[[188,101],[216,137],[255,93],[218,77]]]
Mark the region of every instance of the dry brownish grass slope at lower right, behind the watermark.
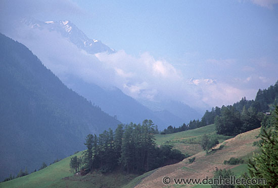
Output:
[[[230,169],[236,167],[236,165],[224,165],[224,160],[229,160],[231,157],[240,158],[244,157],[257,148],[253,146],[253,142],[259,140],[257,138],[260,132],[260,128],[254,129],[242,134],[237,135],[234,138],[225,140],[224,142],[215,146],[219,148],[220,145],[225,145],[221,150],[217,150],[215,153],[206,155],[206,152],[200,152],[190,158],[195,157],[193,163],[189,163],[190,158],[183,161],[159,168],[154,173],[144,178],[135,187],[173,187],[175,184],[174,178],[200,178],[204,179],[213,177],[213,172],[218,169]],[[169,177],[170,183],[164,184],[163,178]],[[184,186],[184,184],[182,184]],[[188,187],[194,185],[187,185]]]

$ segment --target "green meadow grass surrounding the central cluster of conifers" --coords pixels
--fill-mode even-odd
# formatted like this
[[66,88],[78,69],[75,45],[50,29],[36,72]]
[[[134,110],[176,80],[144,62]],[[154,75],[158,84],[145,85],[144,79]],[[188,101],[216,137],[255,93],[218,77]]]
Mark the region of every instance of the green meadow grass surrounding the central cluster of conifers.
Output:
[[[157,144],[168,143],[174,148],[180,149],[183,153],[190,155],[205,155],[200,146],[201,136],[203,134],[216,136],[220,142],[230,137],[216,135],[214,125],[208,125],[194,130],[178,132],[168,135],[155,135]],[[225,143],[225,142],[223,142]],[[253,142],[252,142],[253,144]],[[250,144],[251,145],[251,144]],[[45,169],[31,173],[27,176],[13,179],[11,181],[0,183],[0,187],[134,187],[137,183],[152,176],[156,170],[147,172],[143,175],[126,174],[120,171],[113,173],[101,174],[91,173],[85,176],[76,176],[69,171],[69,162],[72,155],[55,164],[48,166]],[[76,154],[81,156],[81,152]],[[188,159],[182,163],[188,164]],[[172,165],[170,165],[172,166]],[[164,167],[163,167],[164,168]],[[159,168],[158,170],[160,170]],[[190,166],[178,166],[182,171],[195,171],[196,169]]]

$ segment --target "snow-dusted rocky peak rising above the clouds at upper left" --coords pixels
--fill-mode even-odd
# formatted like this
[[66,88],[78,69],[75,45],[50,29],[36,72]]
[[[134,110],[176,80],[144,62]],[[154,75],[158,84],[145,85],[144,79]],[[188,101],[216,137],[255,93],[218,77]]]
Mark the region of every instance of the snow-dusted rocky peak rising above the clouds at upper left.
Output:
[[76,25],[69,20],[64,21],[38,21],[34,19],[23,19],[22,22],[31,28],[48,29],[56,31],[66,37],[78,48],[85,50],[89,54],[100,52],[114,53],[115,50],[109,48],[99,40],[89,39]]

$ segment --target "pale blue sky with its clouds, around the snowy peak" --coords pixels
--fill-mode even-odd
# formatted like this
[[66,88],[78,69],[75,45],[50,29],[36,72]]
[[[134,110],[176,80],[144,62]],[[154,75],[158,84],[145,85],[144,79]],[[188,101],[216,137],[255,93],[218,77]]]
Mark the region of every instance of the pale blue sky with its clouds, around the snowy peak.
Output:
[[[63,66],[100,85],[102,75],[109,74],[106,82],[138,100],[176,99],[195,107],[203,103],[222,106],[244,96],[254,99],[259,88],[278,80],[277,0],[4,0],[0,9],[0,31],[21,40],[55,73],[62,76]],[[66,64],[78,59],[77,55],[54,65],[43,49],[37,48],[38,42],[9,30],[11,22],[30,16],[41,21],[70,20],[89,38],[117,53],[96,57],[75,53],[88,62],[78,71],[75,65],[70,68]],[[76,52],[74,47],[68,48]],[[49,54],[57,50],[67,54],[57,47],[51,50]],[[62,62],[59,54],[57,59]],[[89,61],[99,64],[90,69]],[[100,71],[84,73],[84,69]]]

